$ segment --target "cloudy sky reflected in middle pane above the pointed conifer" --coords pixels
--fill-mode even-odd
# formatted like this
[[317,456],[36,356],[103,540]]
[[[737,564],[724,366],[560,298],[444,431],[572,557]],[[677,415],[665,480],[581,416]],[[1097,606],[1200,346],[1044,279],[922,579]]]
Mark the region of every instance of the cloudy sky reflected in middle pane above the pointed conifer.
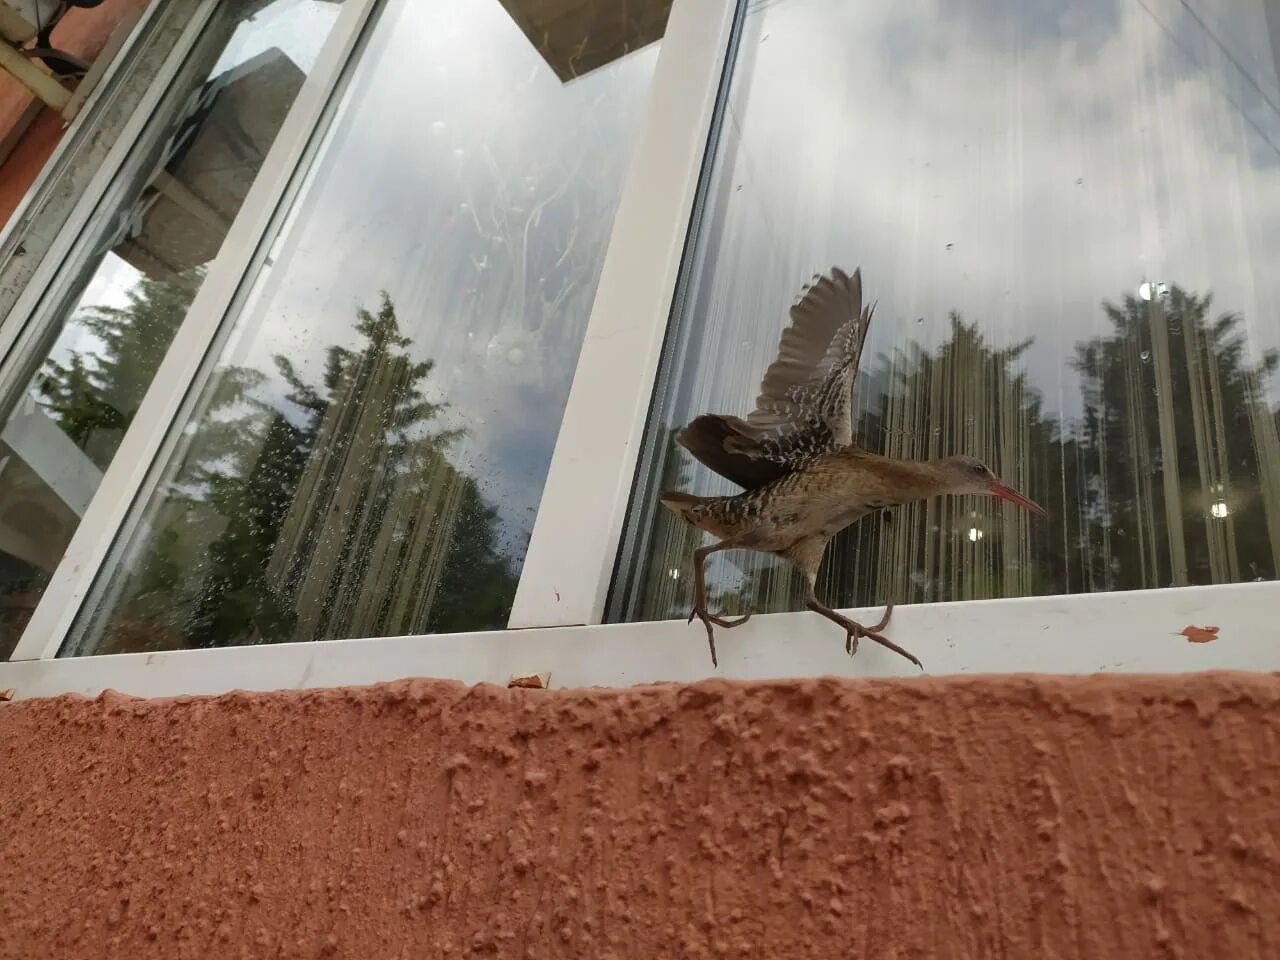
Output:
[[390,0],[225,362],[319,383],[387,291],[522,556],[657,52],[562,84],[497,0]]

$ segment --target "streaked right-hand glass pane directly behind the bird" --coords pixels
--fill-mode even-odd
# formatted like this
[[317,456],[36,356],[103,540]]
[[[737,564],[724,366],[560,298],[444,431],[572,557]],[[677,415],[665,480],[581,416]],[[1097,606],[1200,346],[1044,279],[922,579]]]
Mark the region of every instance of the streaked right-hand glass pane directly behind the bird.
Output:
[[[1280,557],[1280,86],[1263,0],[774,0],[733,68],[611,616],[686,616],[736,493],[673,443],[745,416],[832,265],[878,300],[855,439],[982,458],[1043,504],[936,498],[827,552],[837,605],[1271,579]],[[709,540],[708,540],[709,541]],[[800,579],[708,562],[712,607]]]

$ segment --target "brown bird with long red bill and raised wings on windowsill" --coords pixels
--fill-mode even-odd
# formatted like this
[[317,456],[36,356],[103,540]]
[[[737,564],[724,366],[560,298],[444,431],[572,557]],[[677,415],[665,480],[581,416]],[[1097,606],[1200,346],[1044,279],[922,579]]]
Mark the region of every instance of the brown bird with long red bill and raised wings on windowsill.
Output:
[[845,650],[860,637],[920,660],[883,635],[893,613],[878,623],[859,623],[824,604],[817,594],[818,567],[831,539],[872,513],[945,494],[987,494],[1034,515],[1043,508],[1004,484],[980,460],[948,456],[911,461],[883,457],[854,443],[852,387],[876,303],[863,306],[861,269],[838,266],[815,274],[790,310],[777,358],[760,381],[755,408],[746,417],[703,413],[676,434],[676,443],[699,462],[742,488],[728,497],[663,490],[658,500],[686,524],[717,541],[694,550],[694,609],[707,628],[712,666],[718,667],[714,627],[732,628],[751,618],[728,618],[707,609],[705,562],[728,549],[771,553],[804,577],[805,607],[845,630]]

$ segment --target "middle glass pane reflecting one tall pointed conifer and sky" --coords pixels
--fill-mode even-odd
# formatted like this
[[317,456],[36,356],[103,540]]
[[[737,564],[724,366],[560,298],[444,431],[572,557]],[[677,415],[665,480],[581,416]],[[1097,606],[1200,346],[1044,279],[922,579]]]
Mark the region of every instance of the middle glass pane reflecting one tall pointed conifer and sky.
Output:
[[666,13],[543,9],[381,10],[68,653],[506,626]]

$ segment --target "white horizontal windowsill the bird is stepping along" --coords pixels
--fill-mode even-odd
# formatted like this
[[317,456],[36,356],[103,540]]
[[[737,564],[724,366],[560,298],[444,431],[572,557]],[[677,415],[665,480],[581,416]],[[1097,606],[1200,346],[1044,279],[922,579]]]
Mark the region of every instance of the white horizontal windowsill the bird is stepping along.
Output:
[[[1277,609],[1280,582],[1193,586],[900,607],[886,632],[915,653],[931,676],[1276,671]],[[863,613],[879,616],[878,609]],[[1180,634],[1187,626],[1220,632],[1211,643],[1194,644]],[[760,616],[717,631],[717,648],[721,666],[713,671],[696,622],[547,627],[3,663],[0,689],[13,687],[15,699],[26,699],[93,696],[108,689],[137,696],[220,694],[406,677],[506,685],[512,675],[544,671],[550,671],[553,687],[919,676],[872,641],[847,657],[840,628],[806,612]]]

